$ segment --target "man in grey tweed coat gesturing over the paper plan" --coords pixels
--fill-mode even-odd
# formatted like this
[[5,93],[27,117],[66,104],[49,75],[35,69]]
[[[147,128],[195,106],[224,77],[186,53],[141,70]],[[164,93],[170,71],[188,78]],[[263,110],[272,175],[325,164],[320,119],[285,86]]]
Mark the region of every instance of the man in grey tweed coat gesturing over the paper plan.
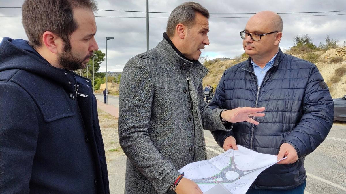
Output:
[[[178,170],[206,159],[203,129],[226,130],[225,122],[264,116],[265,108],[208,109],[202,79],[208,69],[198,58],[209,45],[209,12],[198,3],[176,7],[164,39],[131,58],[119,88],[119,141],[127,158],[125,193],[174,193]],[[182,178],[176,193],[202,193]]]

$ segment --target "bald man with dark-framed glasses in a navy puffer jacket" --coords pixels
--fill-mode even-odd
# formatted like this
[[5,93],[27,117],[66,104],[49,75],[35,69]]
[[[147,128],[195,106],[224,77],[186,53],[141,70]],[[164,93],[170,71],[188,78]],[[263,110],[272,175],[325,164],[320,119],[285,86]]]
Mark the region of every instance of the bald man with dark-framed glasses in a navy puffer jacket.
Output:
[[266,107],[260,122],[227,123],[230,131],[211,132],[228,150],[237,144],[264,154],[287,157],[263,171],[247,193],[303,193],[305,156],[326,138],[334,103],[317,67],[279,48],[282,19],[272,11],[255,14],[240,32],[248,60],[227,69],[209,107]]

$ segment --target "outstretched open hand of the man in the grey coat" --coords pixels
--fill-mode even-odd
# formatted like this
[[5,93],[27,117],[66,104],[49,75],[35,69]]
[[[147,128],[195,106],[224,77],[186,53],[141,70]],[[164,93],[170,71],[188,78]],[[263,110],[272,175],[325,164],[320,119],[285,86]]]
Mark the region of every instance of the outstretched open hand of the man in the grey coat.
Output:
[[251,108],[251,107],[243,107],[243,108],[234,108],[231,110],[226,110],[221,113],[221,117],[224,120],[227,120],[230,123],[238,123],[247,121],[249,123],[258,125],[257,121],[252,119],[251,117],[263,117],[264,113],[258,113],[264,111],[265,108]]

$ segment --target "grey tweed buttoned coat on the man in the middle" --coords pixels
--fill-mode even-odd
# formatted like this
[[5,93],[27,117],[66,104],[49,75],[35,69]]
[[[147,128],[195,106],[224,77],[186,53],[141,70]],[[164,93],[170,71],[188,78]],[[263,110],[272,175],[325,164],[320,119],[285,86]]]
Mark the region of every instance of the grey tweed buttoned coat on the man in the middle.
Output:
[[119,141],[127,156],[125,193],[173,193],[178,170],[206,159],[203,129],[226,130],[222,109],[207,108],[208,69],[163,39],[131,58],[119,88]]

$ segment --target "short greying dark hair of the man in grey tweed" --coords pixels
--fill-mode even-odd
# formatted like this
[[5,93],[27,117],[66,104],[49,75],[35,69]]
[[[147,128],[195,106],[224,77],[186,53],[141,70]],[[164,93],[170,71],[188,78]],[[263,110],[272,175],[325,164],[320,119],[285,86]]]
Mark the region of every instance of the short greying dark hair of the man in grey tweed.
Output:
[[190,28],[195,24],[196,13],[201,13],[207,19],[209,19],[209,11],[196,2],[185,2],[176,7],[167,21],[166,33],[167,36],[172,38],[175,32],[175,27],[178,23],[182,23],[186,27]]

